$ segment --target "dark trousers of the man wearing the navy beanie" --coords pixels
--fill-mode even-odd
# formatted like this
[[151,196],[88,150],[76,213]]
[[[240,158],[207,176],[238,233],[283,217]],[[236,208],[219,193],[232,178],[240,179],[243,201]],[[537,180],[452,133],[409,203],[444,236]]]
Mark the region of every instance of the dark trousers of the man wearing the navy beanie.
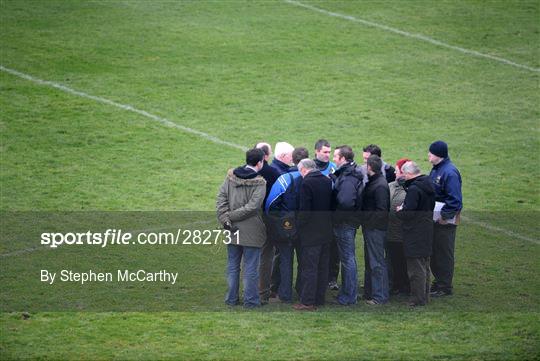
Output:
[[433,251],[431,253],[431,272],[435,278],[433,289],[452,293],[457,226],[435,223],[433,227]]

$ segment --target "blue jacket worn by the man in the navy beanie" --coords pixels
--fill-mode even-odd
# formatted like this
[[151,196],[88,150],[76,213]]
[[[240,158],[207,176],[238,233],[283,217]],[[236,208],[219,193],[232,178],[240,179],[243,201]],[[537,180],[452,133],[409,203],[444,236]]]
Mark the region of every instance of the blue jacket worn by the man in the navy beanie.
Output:
[[453,218],[463,208],[461,195],[461,174],[450,158],[445,158],[433,166],[429,177],[435,187],[435,200],[443,202],[442,219]]

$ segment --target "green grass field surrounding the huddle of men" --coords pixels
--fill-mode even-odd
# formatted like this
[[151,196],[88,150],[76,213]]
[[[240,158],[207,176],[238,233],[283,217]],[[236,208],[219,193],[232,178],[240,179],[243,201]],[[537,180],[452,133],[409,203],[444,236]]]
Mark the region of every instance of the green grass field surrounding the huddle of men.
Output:
[[[539,18],[538,1],[0,0],[0,358],[540,358]],[[38,222],[7,226],[30,211],[213,222],[240,148],[321,137],[426,172],[429,144],[448,142],[465,207],[454,296],[229,309],[223,246],[50,250]],[[181,282],[81,290],[36,273],[96,260]]]

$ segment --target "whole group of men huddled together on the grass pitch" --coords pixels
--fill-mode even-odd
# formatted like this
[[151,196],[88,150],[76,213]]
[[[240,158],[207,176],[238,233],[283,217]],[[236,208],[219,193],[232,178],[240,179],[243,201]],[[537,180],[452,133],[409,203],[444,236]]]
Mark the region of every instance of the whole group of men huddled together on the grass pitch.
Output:
[[238,243],[227,246],[226,304],[240,303],[241,269],[244,307],[292,302],[295,254],[294,309],[324,305],[327,289],[339,290],[333,302],[356,304],[359,228],[367,304],[382,305],[402,293],[415,307],[426,305],[430,296],[452,294],[462,195],[461,175],[446,143],[430,145],[429,175],[407,158],[395,168],[386,164],[374,144],[363,148],[362,164],[351,147],[332,153],[324,139],[316,142],[314,159],[306,148],[286,142],[274,150],[271,163],[268,143],[248,150],[246,164],[229,170],[219,190],[218,220],[238,231]]

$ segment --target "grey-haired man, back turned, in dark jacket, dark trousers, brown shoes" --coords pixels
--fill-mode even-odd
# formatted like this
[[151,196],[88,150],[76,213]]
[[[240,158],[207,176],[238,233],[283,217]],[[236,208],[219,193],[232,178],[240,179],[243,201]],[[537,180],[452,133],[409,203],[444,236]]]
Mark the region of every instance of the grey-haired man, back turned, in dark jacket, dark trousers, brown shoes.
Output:
[[332,181],[311,159],[298,164],[303,177],[298,207],[298,231],[302,255],[300,303],[296,310],[313,311],[324,304],[328,284],[328,262],[332,240]]

